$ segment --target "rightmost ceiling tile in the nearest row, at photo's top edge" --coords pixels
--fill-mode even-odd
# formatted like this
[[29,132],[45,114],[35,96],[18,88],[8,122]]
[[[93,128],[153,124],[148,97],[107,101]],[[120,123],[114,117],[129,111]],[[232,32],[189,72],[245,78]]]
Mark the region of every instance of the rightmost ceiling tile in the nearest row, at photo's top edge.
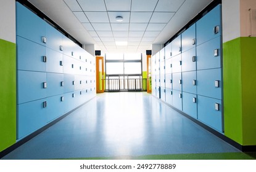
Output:
[[155,12],[176,12],[184,0],[160,0],[155,7]]

